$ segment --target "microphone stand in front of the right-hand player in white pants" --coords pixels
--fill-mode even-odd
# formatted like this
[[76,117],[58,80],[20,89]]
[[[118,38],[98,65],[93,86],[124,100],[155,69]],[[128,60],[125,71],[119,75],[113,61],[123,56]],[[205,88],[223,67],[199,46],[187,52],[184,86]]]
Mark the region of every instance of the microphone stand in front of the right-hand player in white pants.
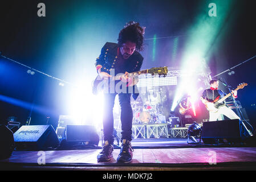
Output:
[[[252,134],[251,134],[251,132],[250,132],[250,130],[248,130],[247,129],[247,127],[245,126],[245,123],[243,123],[243,121],[242,121],[242,118],[243,118],[243,115],[242,115],[242,111],[239,109],[239,106],[238,106],[238,104],[237,104],[237,101],[235,100],[235,98],[233,97],[233,93],[232,93],[232,91],[231,91],[231,86],[230,85],[228,85],[225,81],[222,81],[221,79],[218,79],[219,81],[221,81],[222,82],[222,84],[224,85],[224,86],[226,86],[226,88],[227,89],[229,89],[229,93],[231,94],[231,97],[232,97],[232,100],[233,100],[233,102],[234,102],[234,104],[235,104],[235,110],[237,110],[237,114],[238,114],[238,117],[240,118],[240,120],[239,120],[239,123],[240,123],[240,131],[241,131],[241,133],[242,133],[242,125],[243,125],[243,127],[246,129],[246,131],[247,131],[247,134],[245,133],[245,131],[243,132],[243,134],[245,135],[245,136],[251,136]],[[244,121],[245,121],[245,119],[244,119]],[[246,123],[247,124],[249,124],[247,121],[246,121]],[[250,125],[250,124],[249,124]],[[250,125],[251,126],[251,125]]]

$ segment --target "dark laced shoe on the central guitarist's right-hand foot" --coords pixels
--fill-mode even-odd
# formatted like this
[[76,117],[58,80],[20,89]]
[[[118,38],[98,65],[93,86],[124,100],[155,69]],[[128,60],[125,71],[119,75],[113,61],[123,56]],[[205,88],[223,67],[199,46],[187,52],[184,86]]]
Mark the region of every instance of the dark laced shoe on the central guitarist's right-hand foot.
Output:
[[117,163],[131,163],[132,162],[132,144],[129,140],[122,140],[120,154],[117,157]]

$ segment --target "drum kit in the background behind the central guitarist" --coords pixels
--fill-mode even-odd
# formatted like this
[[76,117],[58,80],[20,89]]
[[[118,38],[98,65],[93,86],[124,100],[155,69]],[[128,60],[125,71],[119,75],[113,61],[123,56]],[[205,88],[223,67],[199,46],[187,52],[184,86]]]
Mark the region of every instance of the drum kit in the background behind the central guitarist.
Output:
[[162,119],[164,115],[162,115],[162,110],[160,105],[146,104],[144,106],[138,106],[137,104],[139,104],[139,102],[135,102],[132,105],[133,123],[147,124],[147,123],[164,123],[165,122],[165,119]]

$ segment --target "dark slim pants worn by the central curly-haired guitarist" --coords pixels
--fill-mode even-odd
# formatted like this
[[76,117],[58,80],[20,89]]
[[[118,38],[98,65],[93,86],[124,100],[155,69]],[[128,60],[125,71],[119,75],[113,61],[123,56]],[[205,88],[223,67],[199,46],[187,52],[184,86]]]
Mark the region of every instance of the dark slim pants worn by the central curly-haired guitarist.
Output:
[[[103,108],[103,134],[104,140],[113,144],[113,106],[115,104],[116,93],[104,94]],[[119,104],[121,106],[121,139],[132,140],[132,106],[131,93],[119,93]]]

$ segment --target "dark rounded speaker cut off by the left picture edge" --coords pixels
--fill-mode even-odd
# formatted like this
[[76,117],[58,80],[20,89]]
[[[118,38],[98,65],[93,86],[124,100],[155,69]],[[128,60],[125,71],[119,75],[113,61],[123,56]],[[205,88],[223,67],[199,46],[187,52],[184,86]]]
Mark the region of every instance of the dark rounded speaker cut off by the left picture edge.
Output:
[[5,125],[0,125],[0,159],[10,158],[14,147],[13,132]]

